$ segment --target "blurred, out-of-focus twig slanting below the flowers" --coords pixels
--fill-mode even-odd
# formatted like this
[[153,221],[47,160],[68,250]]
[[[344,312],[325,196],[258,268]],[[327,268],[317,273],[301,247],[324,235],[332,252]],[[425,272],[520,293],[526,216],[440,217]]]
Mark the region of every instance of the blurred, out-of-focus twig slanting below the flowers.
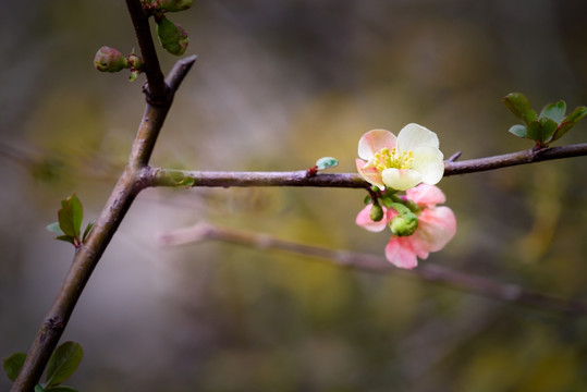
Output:
[[582,302],[531,292],[516,284],[501,283],[475,274],[454,271],[433,264],[425,264],[418,266],[414,270],[404,270],[391,266],[380,256],[328,249],[325,247],[279,240],[266,234],[220,228],[209,223],[197,223],[194,226],[175,230],[162,234],[159,237],[160,243],[166,246],[189,244],[205,240],[218,240],[261,249],[288,250],[294,254],[326,259],[337,266],[353,270],[378,274],[392,273],[501,301],[563,310],[573,314],[587,314],[587,304]]

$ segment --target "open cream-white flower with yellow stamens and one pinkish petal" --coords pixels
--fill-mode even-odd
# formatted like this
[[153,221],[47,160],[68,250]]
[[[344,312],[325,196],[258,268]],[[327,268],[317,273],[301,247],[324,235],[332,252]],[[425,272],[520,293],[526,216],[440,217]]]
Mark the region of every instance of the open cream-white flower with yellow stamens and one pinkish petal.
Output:
[[367,132],[358,140],[356,168],[368,183],[406,191],[419,183],[437,184],[444,174],[436,133],[407,124],[398,137],[386,130]]

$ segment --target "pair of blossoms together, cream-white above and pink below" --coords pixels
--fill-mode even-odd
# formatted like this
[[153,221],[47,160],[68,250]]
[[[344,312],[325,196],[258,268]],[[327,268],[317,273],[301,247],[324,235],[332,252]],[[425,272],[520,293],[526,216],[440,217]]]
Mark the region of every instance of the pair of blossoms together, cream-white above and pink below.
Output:
[[417,226],[403,233],[394,230],[394,223],[402,217],[393,205],[380,207],[383,212],[380,220],[374,220],[380,217],[372,218],[374,203],[356,218],[359,226],[372,232],[383,231],[387,226],[392,229],[386,258],[400,268],[416,267],[418,257],[426,259],[431,252],[442,249],[456,232],[453,211],[438,206],[445,201],[442,191],[435,186],[444,170],[438,145],[436,134],[417,124],[407,125],[398,137],[389,131],[375,130],[359,140],[362,159],[356,162],[359,174],[386,193],[405,191],[405,196],[398,199],[415,206],[414,212],[408,213],[417,217]]

